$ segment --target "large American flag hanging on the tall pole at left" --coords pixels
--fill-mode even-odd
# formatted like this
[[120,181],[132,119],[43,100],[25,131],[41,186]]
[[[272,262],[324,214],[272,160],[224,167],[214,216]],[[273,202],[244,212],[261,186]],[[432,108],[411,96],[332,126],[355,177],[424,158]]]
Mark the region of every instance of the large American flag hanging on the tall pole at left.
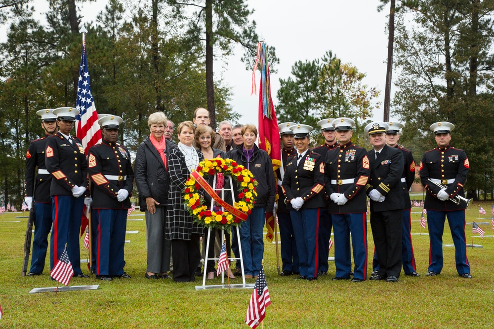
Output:
[[98,124],[98,113],[96,113],[94,98],[89,84],[84,33],[82,34],[82,56],[79,69],[79,82],[77,83],[76,109],[81,111],[76,116],[76,135],[81,139],[82,147],[84,147],[84,152],[87,155],[89,147],[101,142],[101,131]]

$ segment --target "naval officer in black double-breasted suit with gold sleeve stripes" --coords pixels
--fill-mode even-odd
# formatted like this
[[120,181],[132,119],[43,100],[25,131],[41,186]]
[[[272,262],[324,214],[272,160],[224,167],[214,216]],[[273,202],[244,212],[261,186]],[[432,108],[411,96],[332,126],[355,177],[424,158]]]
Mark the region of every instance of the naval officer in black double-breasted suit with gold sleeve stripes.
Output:
[[379,258],[379,272],[371,280],[397,282],[401,272],[404,161],[398,148],[386,145],[387,130],[384,122],[372,122],[365,128],[373,146],[367,152],[371,177],[366,193],[371,198],[371,229]]

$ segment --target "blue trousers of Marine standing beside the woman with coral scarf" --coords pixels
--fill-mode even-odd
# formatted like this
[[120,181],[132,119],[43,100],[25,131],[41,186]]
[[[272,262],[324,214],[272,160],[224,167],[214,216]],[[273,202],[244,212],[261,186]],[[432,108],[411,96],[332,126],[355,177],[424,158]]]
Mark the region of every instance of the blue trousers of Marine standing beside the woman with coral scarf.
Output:
[[96,224],[96,275],[124,274],[127,209],[93,209]]

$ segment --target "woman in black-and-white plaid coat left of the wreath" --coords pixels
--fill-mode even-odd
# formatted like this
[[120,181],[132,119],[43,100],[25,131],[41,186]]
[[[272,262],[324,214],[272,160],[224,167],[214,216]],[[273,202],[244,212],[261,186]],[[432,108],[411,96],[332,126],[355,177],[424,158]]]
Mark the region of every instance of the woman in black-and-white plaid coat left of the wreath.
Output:
[[194,273],[201,261],[201,236],[203,226],[194,222],[185,210],[183,190],[191,172],[204,160],[203,154],[192,146],[195,127],[191,121],[184,121],[177,127],[177,147],[170,151],[168,159],[168,231],[171,239],[173,258],[173,280],[195,281]]

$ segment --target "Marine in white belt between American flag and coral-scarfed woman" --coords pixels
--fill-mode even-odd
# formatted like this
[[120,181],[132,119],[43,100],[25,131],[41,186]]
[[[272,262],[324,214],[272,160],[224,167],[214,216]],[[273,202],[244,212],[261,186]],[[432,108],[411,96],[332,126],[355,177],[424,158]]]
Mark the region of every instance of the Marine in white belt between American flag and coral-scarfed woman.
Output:
[[122,118],[107,115],[98,120],[102,142],[88,152],[92,217],[96,226],[96,278],[130,278],[124,272],[127,209],[130,208],[134,172],[127,148],[118,144]]

